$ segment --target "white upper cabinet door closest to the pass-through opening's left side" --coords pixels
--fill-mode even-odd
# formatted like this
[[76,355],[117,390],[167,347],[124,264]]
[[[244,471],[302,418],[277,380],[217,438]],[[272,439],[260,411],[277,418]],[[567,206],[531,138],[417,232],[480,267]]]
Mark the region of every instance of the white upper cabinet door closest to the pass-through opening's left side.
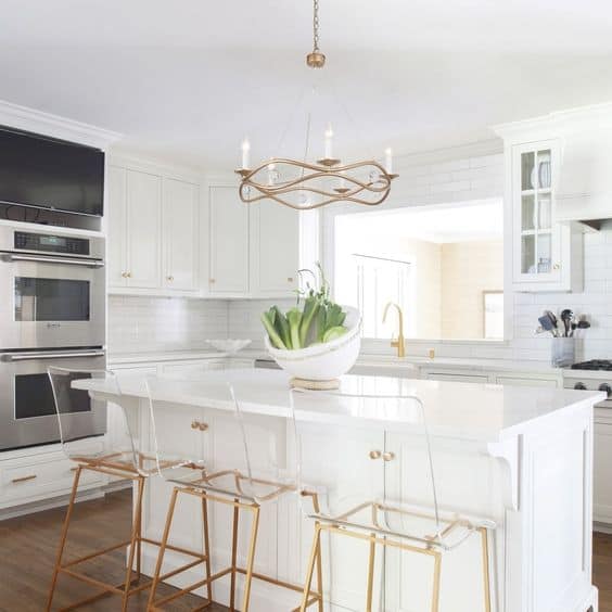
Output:
[[293,295],[299,268],[299,213],[276,202],[251,208],[251,290]]

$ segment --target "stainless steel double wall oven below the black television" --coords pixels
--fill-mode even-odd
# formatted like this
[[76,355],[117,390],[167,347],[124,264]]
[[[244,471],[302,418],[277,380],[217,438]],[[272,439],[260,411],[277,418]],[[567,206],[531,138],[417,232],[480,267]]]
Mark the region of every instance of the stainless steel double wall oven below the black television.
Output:
[[[0,226],[0,450],[59,441],[47,368],[103,369],[105,309],[103,238]],[[103,434],[104,405],[75,399],[80,435]]]

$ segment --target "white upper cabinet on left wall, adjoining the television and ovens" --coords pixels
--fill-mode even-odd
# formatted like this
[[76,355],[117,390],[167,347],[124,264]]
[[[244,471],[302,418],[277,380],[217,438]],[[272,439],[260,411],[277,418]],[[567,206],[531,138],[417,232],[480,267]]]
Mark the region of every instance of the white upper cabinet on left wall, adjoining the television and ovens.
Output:
[[199,187],[111,165],[106,190],[111,291],[197,290]]

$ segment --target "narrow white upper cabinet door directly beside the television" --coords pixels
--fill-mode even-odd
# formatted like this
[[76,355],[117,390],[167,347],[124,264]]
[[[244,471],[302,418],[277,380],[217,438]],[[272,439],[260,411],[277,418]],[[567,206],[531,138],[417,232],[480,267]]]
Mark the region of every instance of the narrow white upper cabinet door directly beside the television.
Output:
[[110,166],[106,179],[109,285],[125,286],[127,284],[126,169]]

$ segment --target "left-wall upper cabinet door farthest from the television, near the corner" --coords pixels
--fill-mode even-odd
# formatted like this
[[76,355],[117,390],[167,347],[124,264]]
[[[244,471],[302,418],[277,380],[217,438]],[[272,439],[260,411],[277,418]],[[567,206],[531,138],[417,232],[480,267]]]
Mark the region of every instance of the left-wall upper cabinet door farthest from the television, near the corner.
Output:
[[197,186],[164,179],[163,285],[193,291],[197,286]]

